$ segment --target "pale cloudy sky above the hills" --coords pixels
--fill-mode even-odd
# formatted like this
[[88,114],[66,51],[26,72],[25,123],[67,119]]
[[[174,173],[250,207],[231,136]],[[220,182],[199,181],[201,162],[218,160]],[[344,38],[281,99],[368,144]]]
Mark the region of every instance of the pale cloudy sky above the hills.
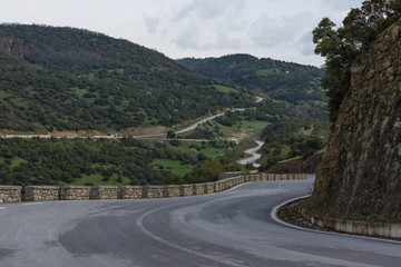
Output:
[[177,59],[251,53],[321,66],[311,31],[363,0],[0,0],[0,22],[69,26]]

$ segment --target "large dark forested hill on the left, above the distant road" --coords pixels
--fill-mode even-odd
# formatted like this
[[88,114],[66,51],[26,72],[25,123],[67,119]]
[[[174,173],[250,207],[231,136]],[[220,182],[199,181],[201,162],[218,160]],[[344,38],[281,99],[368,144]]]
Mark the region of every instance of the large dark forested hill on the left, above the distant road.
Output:
[[0,24],[0,129],[119,130],[173,126],[248,107],[164,55],[74,28]]

